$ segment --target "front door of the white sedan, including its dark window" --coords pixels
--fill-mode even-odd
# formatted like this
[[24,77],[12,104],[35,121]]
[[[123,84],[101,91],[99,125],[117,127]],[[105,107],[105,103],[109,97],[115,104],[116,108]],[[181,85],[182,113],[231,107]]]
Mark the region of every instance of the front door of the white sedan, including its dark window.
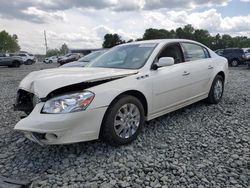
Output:
[[193,83],[189,76],[190,67],[184,63],[179,43],[164,47],[155,62],[161,57],[173,57],[175,64],[150,72],[153,82],[153,114],[183,103],[188,98],[190,85]]

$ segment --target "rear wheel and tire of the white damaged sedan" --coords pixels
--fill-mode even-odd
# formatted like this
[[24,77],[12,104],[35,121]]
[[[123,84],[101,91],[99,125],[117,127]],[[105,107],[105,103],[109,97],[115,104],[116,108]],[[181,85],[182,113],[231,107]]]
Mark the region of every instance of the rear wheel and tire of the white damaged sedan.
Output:
[[210,104],[218,104],[222,99],[223,92],[224,92],[224,79],[221,75],[217,75],[214,78],[214,81],[210,88],[207,102]]

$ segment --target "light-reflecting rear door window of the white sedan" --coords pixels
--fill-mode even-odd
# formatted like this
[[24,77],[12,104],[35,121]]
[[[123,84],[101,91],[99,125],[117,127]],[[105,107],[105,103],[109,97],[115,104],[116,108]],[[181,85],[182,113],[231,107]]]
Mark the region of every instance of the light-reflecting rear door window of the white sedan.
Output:
[[197,44],[182,43],[185,61],[195,61],[209,58],[208,51]]

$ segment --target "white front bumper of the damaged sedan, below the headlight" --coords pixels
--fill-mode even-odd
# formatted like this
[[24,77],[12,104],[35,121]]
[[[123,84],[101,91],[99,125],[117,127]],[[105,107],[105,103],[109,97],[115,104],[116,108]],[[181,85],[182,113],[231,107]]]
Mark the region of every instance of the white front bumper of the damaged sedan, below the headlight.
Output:
[[107,107],[68,114],[43,114],[43,105],[37,104],[29,116],[16,124],[15,130],[24,132],[27,138],[40,145],[98,139]]

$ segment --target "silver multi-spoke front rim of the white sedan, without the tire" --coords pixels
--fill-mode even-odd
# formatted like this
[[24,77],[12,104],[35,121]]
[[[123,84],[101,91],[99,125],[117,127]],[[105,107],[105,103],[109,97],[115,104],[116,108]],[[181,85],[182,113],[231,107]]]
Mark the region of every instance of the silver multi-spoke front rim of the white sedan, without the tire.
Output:
[[115,116],[114,128],[116,135],[120,138],[130,138],[136,133],[140,120],[139,108],[132,103],[124,104]]

